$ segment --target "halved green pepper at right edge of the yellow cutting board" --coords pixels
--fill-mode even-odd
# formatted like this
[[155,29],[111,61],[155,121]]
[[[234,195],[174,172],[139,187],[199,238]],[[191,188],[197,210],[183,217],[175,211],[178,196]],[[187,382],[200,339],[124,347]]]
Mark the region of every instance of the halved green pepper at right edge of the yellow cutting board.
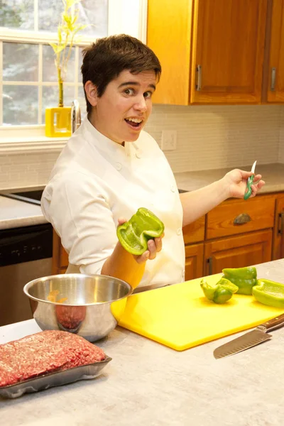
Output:
[[271,280],[257,280],[253,287],[253,296],[263,305],[283,307],[284,285]]

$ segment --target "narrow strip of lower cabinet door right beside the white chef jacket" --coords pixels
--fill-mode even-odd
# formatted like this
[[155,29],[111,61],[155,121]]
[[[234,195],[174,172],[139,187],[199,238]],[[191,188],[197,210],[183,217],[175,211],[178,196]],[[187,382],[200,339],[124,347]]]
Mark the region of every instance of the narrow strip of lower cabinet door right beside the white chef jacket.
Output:
[[185,281],[200,278],[203,275],[204,244],[185,246]]

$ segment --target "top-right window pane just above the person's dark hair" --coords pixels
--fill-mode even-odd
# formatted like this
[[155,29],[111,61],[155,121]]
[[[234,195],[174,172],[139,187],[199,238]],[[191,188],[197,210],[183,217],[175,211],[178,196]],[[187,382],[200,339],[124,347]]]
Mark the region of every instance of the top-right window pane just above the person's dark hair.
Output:
[[80,10],[78,22],[92,24],[80,31],[80,34],[105,37],[107,35],[109,1],[82,0],[77,7]]

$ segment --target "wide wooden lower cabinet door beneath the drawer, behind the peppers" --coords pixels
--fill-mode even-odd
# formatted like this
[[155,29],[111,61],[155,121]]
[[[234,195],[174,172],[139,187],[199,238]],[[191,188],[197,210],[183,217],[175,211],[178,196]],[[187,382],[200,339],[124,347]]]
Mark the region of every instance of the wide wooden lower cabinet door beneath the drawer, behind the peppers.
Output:
[[271,261],[272,229],[205,243],[204,275]]

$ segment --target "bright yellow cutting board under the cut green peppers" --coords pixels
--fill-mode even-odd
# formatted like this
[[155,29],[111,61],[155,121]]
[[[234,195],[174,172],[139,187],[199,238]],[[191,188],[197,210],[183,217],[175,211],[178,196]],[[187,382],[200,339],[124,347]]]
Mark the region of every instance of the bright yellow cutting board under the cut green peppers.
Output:
[[[217,283],[222,274],[206,277]],[[283,312],[253,296],[233,295],[224,305],[207,300],[200,278],[131,295],[119,325],[177,351],[256,327]]]

